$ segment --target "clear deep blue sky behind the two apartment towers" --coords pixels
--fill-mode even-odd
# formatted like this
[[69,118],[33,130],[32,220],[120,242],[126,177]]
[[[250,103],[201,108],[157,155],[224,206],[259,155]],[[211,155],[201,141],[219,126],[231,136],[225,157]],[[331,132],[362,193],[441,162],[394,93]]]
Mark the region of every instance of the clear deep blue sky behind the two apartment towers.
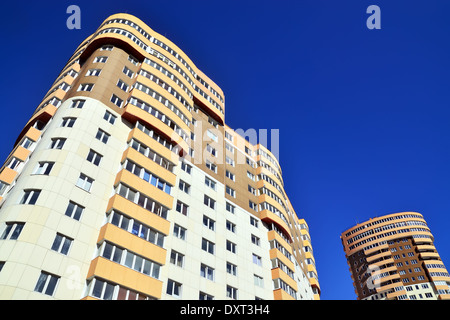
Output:
[[[71,4],[81,30],[66,28]],[[371,4],[381,30],[366,28]],[[356,298],[339,236],[374,216],[422,213],[450,267],[449,1],[2,3],[1,162],[77,45],[118,12],[171,39],[224,90],[232,128],[280,129],[322,299]]]

